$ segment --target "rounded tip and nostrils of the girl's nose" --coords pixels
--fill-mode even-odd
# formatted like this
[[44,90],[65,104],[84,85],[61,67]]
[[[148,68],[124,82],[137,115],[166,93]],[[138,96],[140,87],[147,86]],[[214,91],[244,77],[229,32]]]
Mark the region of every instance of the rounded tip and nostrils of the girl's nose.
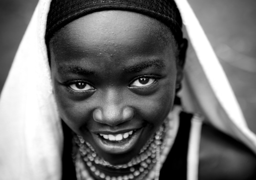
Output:
[[106,107],[97,108],[93,111],[93,119],[96,122],[116,126],[125,121],[129,121],[134,116],[133,108],[129,106],[119,107],[117,105],[108,105]]

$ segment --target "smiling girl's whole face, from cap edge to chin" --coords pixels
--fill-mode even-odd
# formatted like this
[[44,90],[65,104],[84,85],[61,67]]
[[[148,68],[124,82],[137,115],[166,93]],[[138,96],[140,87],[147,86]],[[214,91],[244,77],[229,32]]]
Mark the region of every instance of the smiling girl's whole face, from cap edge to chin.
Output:
[[176,45],[163,24],[124,11],[73,21],[50,41],[60,117],[105,160],[137,155],[172,109]]

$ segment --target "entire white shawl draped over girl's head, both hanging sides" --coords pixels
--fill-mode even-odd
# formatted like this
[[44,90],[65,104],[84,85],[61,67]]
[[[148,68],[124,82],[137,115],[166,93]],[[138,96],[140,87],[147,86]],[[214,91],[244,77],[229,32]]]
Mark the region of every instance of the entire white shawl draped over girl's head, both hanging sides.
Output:
[[[256,153],[255,134],[247,128],[225,73],[195,14],[186,0],[175,2],[197,55],[197,58],[188,56],[185,65],[187,76],[181,97],[188,105],[186,108],[191,109],[196,104],[210,123]],[[1,94],[1,179],[61,178],[63,135],[44,40],[49,7],[50,0],[39,1]]]

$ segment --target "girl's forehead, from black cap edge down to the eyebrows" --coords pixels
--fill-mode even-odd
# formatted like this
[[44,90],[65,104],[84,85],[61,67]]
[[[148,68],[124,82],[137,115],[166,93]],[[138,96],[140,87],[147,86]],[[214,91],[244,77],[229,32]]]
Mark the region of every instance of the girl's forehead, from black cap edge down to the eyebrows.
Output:
[[[170,30],[155,19],[133,12],[103,11],[73,21],[50,42],[51,61],[96,71],[122,71],[146,61],[173,59]],[[172,63],[167,63],[169,66]],[[98,70],[97,70],[98,71]],[[100,71],[99,71],[100,72]]]

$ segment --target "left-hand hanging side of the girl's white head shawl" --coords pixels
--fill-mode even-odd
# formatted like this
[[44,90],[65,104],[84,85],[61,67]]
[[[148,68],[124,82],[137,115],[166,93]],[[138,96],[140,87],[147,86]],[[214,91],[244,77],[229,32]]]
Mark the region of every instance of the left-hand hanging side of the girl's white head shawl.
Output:
[[0,179],[60,179],[62,132],[44,31],[50,1],[40,1],[0,101]]

